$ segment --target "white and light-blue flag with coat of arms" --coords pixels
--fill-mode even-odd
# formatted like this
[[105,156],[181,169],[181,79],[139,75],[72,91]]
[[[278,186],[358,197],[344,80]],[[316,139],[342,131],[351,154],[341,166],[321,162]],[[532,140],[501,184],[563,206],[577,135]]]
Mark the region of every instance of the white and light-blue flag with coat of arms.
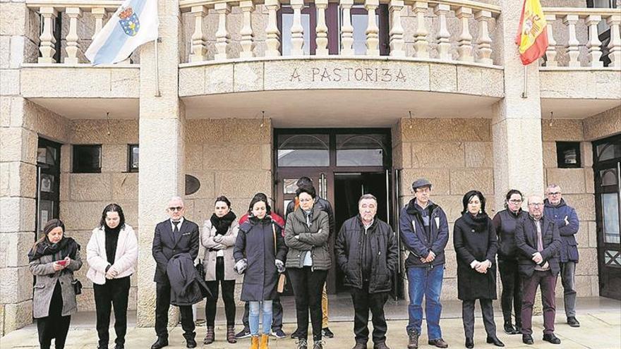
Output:
[[85,56],[93,65],[124,61],[141,44],[157,39],[158,25],[157,0],[125,0],[97,33]]

